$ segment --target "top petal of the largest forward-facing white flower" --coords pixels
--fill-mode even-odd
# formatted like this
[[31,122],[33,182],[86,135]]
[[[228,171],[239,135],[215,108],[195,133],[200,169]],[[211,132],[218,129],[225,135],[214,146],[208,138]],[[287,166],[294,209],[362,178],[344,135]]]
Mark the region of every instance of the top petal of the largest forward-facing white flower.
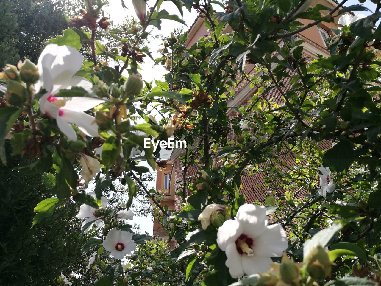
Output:
[[235,219],[242,225],[243,233],[256,238],[267,226],[266,208],[254,204],[243,204],[239,207]]

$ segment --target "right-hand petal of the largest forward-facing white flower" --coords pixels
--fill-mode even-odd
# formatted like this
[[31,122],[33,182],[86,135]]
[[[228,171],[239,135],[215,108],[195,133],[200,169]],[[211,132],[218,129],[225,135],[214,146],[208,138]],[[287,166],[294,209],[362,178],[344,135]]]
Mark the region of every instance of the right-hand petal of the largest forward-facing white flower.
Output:
[[268,225],[265,231],[254,239],[254,253],[259,256],[279,257],[288,247],[286,233],[279,223]]

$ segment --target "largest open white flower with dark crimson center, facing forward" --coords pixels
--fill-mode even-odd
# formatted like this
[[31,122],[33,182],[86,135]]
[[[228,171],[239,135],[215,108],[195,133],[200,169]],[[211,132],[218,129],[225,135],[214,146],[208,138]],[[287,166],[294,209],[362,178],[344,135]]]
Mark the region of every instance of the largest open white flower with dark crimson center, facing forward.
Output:
[[265,207],[254,204],[243,204],[235,219],[218,228],[217,244],[226,253],[225,264],[233,278],[267,272],[270,257],[282,256],[288,247],[283,227],[267,225]]

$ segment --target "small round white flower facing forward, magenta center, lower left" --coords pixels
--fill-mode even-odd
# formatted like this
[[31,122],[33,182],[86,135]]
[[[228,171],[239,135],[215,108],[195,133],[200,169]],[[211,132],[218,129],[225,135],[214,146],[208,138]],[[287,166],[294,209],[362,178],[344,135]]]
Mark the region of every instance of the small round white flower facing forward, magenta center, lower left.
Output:
[[132,239],[132,233],[113,228],[103,241],[103,247],[110,252],[115,259],[122,259],[127,254],[136,250],[136,243]]

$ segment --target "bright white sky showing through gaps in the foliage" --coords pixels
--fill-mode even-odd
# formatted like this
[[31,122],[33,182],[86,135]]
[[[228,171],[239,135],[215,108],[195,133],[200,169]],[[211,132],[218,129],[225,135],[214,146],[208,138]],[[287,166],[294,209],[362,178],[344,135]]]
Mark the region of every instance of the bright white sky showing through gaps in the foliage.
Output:
[[[109,5],[104,6],[103,10],[105,12],[105,16],[109,17],[114,25],[123,23],[125,18],[129,16],[133,16],[134,18],[137,18],[131,0],[124,0],[124,3],[127,6],[126,9],[122,7],[121,0],[109,0]],[[155,0],[148,0],[147,3],[149,6],[153,6],[155,3]],[[361,3],[359,3],[359,1],[357,0],[348,0],[346,2],[346,6],[355,5],[355,4],[361,4]],[[215,6],[218,6],[218,5],[215,5]],[[370,8],[370,10],[372,11],[374,11],[376,8],[376,4],[370,2],[369,0],[365,2],[365,6]],[[181,18],[181,15],[178,9],[170,1],[164,1],[160,9],[165,9],[170,14],[176,14]],[[371,14],[371,12],[369,11],[360,11],[360,12],[354,12],[354,13],[361,13],[365,15]],[[183,28],[184,32],[186,32],[189,29],[189,27],[192,25],[192,23],[194,22],[196,17],[197,17],[197,12],[194,9],[192,9],[191,12],[184,9],[184,16],[182,17],[182,19],[186,22],[187,24],[186,26],[176,21],[163,19],[161,24],[162,29],[159,31],[155,28],[152,34],[162,35],[164,37],[170,37],[170,32],[173,32],[175,28],[180,28],[180,27]],[[153,26],[149,26],[149,27],[153,27]],[[159,48],[162,48],[161,46],[163,41],[162,38],[158,37],[157,39],[153,39],[152,37],[149,37],[149,40],[150,40],[150,44],[149,44],[150,50],[153,51],[152,57],[153,58],[161,57],[161,55],[157,53],[157,50]],[[149,57],[144,58],[144,63],[140,64],[140,66],[142,67],[142,70],[139,72],[141,73],[142,78],[146,80],[147,82],[150,82],[150,81],[155,82],[155,79],[163,80],[163,76],[167,72],[162,65],[155,66],[154,64],[155,64],[154,61],[152,61],[152,59],[150,59]],[[124,75],[127,76],[126,74]],[[166,153],[168,154],[169,152],[166,151]],[[150,187],[155,188],[155,181],[150,183]],[[147,231],[149,234],[152,235],[153,222],[150,217],[136,217],[135,216],[133,223],[139,223],[141,225],[142,233]]]

